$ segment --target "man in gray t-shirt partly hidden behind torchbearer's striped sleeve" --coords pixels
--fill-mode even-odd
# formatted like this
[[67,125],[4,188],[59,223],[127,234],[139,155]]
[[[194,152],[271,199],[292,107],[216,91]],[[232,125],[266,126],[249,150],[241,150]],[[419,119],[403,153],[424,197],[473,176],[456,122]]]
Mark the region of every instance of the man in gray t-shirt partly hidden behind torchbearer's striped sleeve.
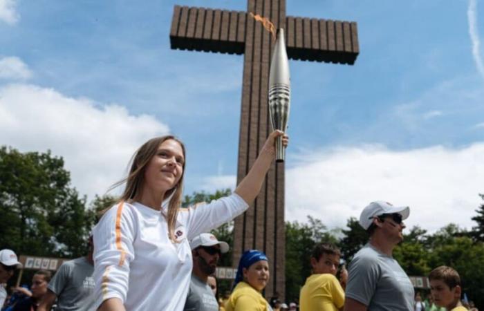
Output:
[[93,280],[92,240],[89,242],[89,254],[59,267],[48,283],[47,294],[42,299],[37,311],[48,311],[57,298],[56,311],[95,311]]

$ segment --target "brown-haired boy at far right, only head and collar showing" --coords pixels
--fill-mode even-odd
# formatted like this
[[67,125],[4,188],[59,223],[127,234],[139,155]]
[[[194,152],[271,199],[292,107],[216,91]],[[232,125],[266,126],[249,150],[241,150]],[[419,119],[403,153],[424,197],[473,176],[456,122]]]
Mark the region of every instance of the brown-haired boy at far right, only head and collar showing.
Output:
[[467,311],[460,303],[460,276],[452,267],[441,265],[429,274],[430,291],[434,302],[448,311]]

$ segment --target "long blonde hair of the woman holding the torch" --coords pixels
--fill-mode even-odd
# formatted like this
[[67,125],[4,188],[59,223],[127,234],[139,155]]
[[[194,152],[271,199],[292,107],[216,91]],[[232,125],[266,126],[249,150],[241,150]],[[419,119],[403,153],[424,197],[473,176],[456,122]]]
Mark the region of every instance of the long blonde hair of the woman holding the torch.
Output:
[[[142,144],[142,146],[136,151],[136,153],[134,153],[133,157],[131,158],[131,167],[129,169],[128,176],[126,178],[123,178],[119,182],[116,182],[111,187],[112,189],[126,183],[126,187],[124,188],[124,191],[120,196],[120,200],[130,202],[139,198],[142,187],[145,185],[146,167],[151,161],[151,158],[156,155],[160,144],[162,144],[162,142],[165,142],[165,140],[174,140],[178,142],[183,150],[183,158],[185,158],[185,145],[183,145],[183,142],[178,140],[178,138],[172,135],[151,138],[151,140],[148,140],[147,142],[145,142],[145,144]],[[182,202],[185,163],[186,162],[183,161],[183,173],[180,177],[180,180],[178,180],[178,184],[165,192],[165,197],[163,198],[163,200],[166,200],[171,196],[168,203],[168,211],[166,214],[163,213],[163,216],[165,216],[165,219],[167,220],[169,238],[173,242],[176,242],[176,217],[178,216],[178,208],[181,206]]]

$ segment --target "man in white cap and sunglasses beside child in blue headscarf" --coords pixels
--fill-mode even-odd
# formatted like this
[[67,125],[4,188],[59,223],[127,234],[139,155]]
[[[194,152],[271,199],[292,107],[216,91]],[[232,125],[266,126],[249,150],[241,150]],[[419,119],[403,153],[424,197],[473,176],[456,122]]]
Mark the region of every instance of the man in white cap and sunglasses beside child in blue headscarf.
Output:
[[185,311],[218,311],[218,302],[207,284],[208,276],[214,274],[221,254],[228,252],[229,245],[210,233],[203,233],[190,241],[193,257],[192,281],[185,302]]

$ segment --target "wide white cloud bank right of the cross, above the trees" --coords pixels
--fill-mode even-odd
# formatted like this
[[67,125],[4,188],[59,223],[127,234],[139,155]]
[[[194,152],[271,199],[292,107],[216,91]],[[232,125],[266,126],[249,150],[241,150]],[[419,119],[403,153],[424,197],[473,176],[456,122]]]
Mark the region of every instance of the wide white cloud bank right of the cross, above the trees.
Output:
[[[464,149],[390,151],[382,146],[301,153],[286,173],[286,218],[344,227],[373,200],[409,205],[407,225],[434,231],[470,219],[482,203],[484,143]],[[295,160],[294,160],[295,158]]]

